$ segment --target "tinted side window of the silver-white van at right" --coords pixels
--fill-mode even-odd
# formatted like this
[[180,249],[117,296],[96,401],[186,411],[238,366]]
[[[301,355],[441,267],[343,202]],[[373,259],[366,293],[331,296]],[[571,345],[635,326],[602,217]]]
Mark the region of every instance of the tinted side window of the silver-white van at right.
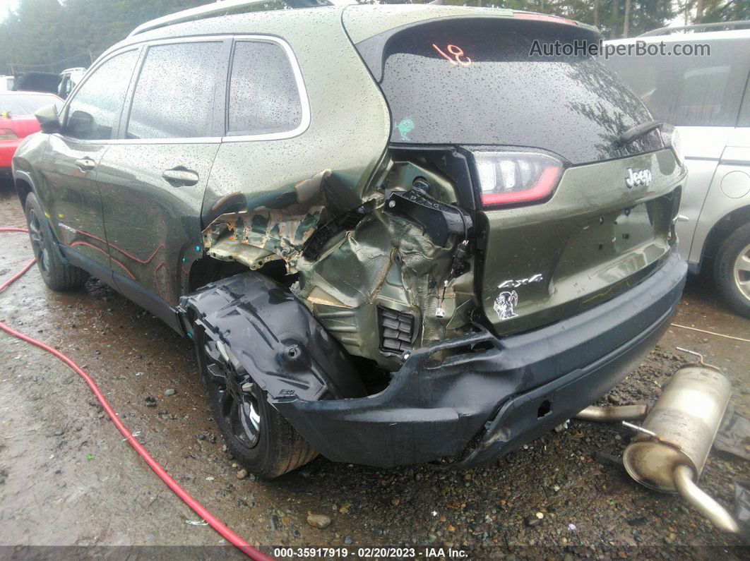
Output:
[[[699,37],[679,40],[706,43]],[[674,45],[675,43],[669,43]],[[659,121],[685,127],[734,127],[750,70],[750,40],[712,39],[694,55],[610,56],[619,73]],[[668,52],[671,52],[668,51]]]

